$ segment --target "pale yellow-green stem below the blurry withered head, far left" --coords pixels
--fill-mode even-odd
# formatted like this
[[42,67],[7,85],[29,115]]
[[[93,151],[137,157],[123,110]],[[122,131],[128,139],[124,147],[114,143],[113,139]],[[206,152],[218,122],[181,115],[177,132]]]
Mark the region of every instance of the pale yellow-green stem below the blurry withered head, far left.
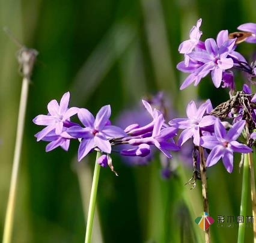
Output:
[[15,143],[14,158],[13,158],[13,170],[11,172],[10,191],[9,191],[6,215],[5,215],[4,236],[2,240],[3,243],[11,242],[11,233],[13,231],[13,218],[14,218],[16,191],[17,191],[17,178],[19,173],[20,152],[22,148],[22,138],[23,138],[24,121],[25,121],[25,113],[26,113],[26,101],[28,97],[28,86],[29,86],[29,78],[24,77],[22,82],[22,91],[20,95],[16,143]]

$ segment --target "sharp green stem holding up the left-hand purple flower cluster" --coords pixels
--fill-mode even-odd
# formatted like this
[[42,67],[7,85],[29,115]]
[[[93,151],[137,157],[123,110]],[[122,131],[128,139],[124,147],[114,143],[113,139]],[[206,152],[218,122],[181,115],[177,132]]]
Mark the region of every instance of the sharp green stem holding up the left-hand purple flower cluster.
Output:
[[97,152],[96,162],[94,167],[93,173],[93,184],[91,185],[91,197],[88,209],[88,218],[87,218],[87,227],[85,233],[85,243],[91,242],[91,233],[93,231],[93,217],[96,207],[96,196],[97,196],[97,188],[100,176],[100,165],[97,163],[98,158],[100,157],[101,153]]

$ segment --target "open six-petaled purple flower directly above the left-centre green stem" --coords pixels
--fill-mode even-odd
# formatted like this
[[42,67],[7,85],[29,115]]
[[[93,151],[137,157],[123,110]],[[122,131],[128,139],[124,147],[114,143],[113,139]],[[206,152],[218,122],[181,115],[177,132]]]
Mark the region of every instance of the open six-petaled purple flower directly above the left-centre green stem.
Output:
[[78,149],[78,161],[81,161],[88,152],[94,148],[99,148],[102,152],[111,153],[111,143],[109,139],[127,136],[124,131],[114,125],[108,125],[111,116],[111,107],[103,106],[94,118],[87,109],[79,109],[78,118],[85,126],[73,126],[67,130],[71,136],[81,138]]

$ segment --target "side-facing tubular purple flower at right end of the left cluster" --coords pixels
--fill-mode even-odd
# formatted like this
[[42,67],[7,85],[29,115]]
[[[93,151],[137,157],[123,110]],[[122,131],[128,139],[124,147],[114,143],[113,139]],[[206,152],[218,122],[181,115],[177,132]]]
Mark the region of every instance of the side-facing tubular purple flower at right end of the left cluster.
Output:
[[154,128],[150,137],[130,139],[129,144],[141,145],[142,143],[146,143],[148,145],[155,145],[156,148],[160,149],[160,151],[166,155],[166,157],[172,158],[169,151],[178,151],[180,149],[177,145],[175,145],[174,140],[172,139],[172,137],[176,135],[177,129],[174,127],[162,129],[164,122],[165,119],[163,118],[163,115],[159,115],[154,120]]

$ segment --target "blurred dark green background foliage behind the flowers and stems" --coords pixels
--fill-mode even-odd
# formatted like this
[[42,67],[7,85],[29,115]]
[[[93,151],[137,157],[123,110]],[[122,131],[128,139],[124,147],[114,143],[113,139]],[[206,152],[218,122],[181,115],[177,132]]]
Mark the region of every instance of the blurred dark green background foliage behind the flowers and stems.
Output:
[[[181,115],[192,99],[211,98],[219,104],[227,92],[216,91],[209,79],[198,88],[178,91],[185,77],[175,69],[183,58],[178,45],[200,17],[203,40],[215,38],[222,29],[234,32],[242,23],[256,22],[254,0],[0,3],[1,237],[22,84],[16,61],[19,47],[2,28],[7,26],[21,43],[39,52],[29,87],[19,172],[13,230],[17,243],[84,242],[94,155],[78,163],[78,143],[73,142],[68,153],[59,148],[46,153],[46,143],[35,141],[40,127],[32,119],[46,113],[50,100],[70,91],[71,105],[87,107],[94,114],[111,104],[112,119],[157,91],[165,91]],[[254,49],[242,44],[239,50],[249,56]],[[212,242],[237,239],[238,228],[219,228],[217,215],[239,215],[239,160],[237,156],[231,175],[222,163],[208,170],[210,216],[216,221],[210,227]],[[144,167],[129,167],[119,157],[113,163],[118,177],[108,168],[100,175],[94,242],[203,242],[203,230],[194,223],[203,211],[201,182],[195,190],[184,186],[192,176],[192,164],[187,167],[178,161],[175,176],[163,180],[157,160]],[[252,229],[246,229],[246,242],[251,241]]]

